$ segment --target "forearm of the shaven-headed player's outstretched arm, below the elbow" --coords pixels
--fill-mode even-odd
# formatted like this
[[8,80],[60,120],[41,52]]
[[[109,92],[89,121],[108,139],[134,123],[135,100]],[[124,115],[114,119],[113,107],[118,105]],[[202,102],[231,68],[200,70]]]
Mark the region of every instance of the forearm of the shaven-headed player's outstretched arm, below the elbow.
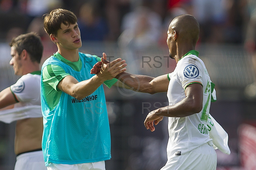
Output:
[[154,79],[153,77],[124,72],[118,74],[116,79],[130,87],[133,91],[153,93],[154,87],[150,83]]

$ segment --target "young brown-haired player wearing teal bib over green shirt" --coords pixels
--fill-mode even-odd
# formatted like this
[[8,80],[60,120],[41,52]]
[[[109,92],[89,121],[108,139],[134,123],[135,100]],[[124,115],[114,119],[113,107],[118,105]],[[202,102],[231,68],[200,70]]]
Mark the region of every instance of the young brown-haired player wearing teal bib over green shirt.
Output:
[[80,30],[68,10],[46,14],[44,29],[58,47],[42,66],[45,165],[49,170],[103,170],[110,159],[110,131],[102,83],[111,87],[126,70],[125,61],[118,58],[91,75],[98,60],[78,51]]

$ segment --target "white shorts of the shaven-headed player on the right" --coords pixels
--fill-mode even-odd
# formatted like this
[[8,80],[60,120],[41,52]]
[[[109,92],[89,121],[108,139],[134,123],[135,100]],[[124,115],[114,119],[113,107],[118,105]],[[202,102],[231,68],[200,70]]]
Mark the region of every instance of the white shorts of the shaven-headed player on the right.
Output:
[[216,166],[217,154],[213,147],[206,143],[183,155],[173,156],[161,170],[216,170]]

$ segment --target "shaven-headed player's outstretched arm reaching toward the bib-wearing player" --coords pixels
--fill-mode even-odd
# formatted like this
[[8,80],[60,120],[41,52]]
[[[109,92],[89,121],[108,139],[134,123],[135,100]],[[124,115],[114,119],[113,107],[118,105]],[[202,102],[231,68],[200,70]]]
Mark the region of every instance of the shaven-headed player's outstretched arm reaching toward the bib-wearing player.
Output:
[[[153,78],[124,72],[118,74],[116,78],[134,91],[150,94],[167,92],[169,85],[167,74]],[[117,85],[120,86],[118,83]]]

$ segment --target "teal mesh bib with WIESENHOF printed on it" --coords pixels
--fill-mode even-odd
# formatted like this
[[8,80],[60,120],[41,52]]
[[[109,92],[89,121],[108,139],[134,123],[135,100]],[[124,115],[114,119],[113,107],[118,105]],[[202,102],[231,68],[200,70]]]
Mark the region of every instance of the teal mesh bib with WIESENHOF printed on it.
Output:
[[[61,66],[79,82],[90,79],[92,66],[97,62],[89,54],[79,53],[83,63],[80,72],[55,57],[47,65]],[[44,99],[41,77],[41,106],[44,117],[42,149],[45,165],[80,164],[110,159],[110,130],[103,86],[82,100],[62,92],[58,105],[50,111]]]

